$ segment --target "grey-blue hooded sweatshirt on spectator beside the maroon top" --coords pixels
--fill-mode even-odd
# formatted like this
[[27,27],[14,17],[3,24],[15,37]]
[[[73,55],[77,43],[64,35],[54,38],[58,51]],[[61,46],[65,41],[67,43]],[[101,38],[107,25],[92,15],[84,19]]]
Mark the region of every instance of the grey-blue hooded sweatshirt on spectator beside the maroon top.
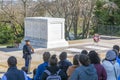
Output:
[[70,77],[70,80],[98,80],[97,71],[94,65],[80,66]]

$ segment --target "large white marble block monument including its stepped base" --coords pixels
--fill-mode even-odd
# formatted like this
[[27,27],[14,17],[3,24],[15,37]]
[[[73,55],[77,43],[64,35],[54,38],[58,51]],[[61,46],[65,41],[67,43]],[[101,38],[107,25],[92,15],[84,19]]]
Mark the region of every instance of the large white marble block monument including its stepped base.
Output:
[[25,19],[25,35],[19,47],[23,47],[25,40],[37,48],[66,47],[63,18],[27,17]]

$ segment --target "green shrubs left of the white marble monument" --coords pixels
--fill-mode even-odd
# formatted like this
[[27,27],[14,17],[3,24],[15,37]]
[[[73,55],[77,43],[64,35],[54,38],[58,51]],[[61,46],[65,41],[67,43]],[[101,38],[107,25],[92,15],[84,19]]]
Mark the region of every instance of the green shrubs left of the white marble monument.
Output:
[[20,43],[23,38],[23,30],[16,24],[17,34],[11,24],[0,23],[0,44]]

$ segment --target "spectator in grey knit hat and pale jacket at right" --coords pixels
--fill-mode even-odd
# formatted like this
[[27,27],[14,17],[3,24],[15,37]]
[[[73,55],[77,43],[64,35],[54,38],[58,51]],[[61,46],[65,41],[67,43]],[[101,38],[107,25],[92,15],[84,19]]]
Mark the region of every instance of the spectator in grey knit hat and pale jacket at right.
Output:
[[103,60],[103,67],[107,73],[107,80],[118,80],[120,76],[120,66],[116,62],[116,53],[113,50],[107,52],[105,59]]

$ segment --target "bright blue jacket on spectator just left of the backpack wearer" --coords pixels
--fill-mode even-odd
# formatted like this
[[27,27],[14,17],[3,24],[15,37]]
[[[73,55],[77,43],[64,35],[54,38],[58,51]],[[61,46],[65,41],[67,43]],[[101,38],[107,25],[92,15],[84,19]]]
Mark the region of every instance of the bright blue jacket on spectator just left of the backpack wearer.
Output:
[[34,77],[34,80],[42,80],[41,79],[42,73],[44,72],[44,70],[46,70],[47,67],[48,67],[48,62],[44,62],[40,64],[36,70],[36,75]]

